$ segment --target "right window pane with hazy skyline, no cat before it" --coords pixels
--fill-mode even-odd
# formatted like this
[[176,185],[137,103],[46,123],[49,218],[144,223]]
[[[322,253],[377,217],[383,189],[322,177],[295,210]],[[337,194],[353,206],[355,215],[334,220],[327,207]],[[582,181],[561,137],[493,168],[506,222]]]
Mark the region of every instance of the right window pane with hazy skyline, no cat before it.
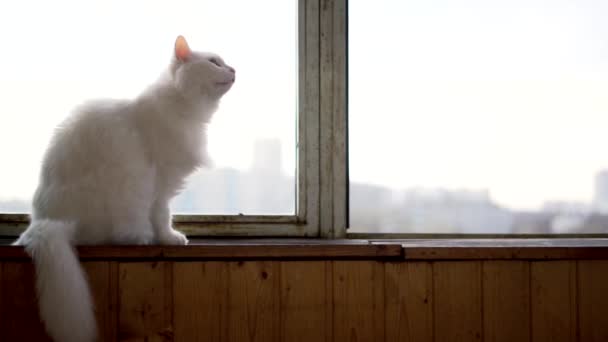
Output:
[[608,2],[351,1],[351,230],[608,232]]

